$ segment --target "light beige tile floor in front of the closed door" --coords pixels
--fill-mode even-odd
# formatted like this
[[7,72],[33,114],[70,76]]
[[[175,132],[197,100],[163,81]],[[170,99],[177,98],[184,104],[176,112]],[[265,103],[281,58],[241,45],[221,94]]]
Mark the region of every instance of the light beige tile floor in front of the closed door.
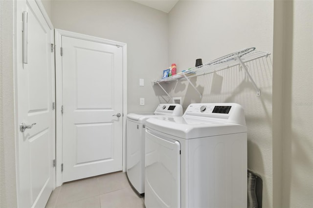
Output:
[[45,208],[145,208],[126,173],[115,172],[63,184],[53,190]]

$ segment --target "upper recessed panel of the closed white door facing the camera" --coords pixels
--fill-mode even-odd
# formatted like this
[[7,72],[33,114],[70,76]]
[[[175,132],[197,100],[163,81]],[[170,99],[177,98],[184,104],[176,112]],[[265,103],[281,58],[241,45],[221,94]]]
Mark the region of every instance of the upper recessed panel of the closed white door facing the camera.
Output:
[[[108,83],[111,83],[114,75],[112,73],[114,54],[86,48],[76,48],[75,52],[77,57],[77,109],[112,109],[113,86]],[[106,66],[108,70],[103,70],[103,66]],[[94,89],[103,90],[99,93]]]

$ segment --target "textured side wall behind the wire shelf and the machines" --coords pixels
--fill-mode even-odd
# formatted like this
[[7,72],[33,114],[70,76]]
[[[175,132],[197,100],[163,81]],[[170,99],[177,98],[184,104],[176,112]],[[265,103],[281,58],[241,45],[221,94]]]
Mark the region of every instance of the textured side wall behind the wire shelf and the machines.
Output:
[[[272,53],[273,1],[179,1],[169,13],[169,64],[178,71],[209,62],[247,47]],[[238,67],[187,82],[163,84],[170,95],[190,103],[243,105],[248,128],[248,168],[263,179],[263,207],[272,206],[272,62],[271,56],[249,62],[249,71],[261,89],[256,91]]]

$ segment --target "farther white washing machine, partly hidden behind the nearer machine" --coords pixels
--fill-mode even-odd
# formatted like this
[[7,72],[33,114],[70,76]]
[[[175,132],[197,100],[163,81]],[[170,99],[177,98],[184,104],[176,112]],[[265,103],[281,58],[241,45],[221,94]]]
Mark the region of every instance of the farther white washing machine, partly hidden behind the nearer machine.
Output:
[[152,117],[182,116],[180,104],[159,104],[154,113],[130,113],[127,115],[127,176],[139,194],[144,193],[145,122]]

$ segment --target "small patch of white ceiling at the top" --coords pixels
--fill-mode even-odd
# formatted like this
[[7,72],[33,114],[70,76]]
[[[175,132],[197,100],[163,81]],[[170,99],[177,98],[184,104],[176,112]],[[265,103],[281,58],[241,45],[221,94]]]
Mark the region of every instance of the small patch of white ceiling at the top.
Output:
[[179,0],[133,0],[133,1],[143,4],[145,6],[155,8],[162,12],[169,13]]

